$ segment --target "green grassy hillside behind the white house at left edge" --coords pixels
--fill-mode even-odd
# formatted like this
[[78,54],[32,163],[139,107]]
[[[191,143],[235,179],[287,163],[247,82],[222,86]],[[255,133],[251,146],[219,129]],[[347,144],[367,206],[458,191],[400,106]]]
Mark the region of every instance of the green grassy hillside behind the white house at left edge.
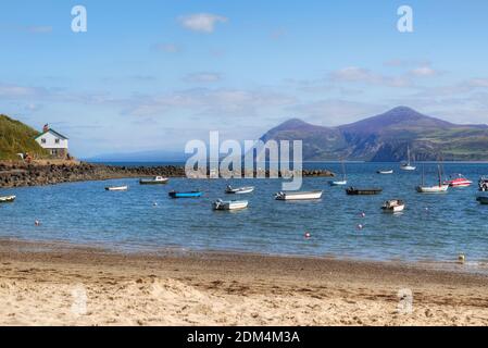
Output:
[[39,132],[22,122],[0,114],[0,160],[17,160],[17,153],[26,152],[36,158],[49,157],[34,140],[38,134]]

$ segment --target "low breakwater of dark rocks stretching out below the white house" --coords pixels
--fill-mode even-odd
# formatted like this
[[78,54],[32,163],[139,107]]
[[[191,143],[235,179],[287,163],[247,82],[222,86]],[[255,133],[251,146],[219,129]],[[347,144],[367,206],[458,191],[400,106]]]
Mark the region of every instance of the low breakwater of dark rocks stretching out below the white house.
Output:
[[[158,175],[165,177],[186,176],[184,166],[174,165],[115,166],[91,163],[43,165],[0,163],[0,187],[42,186]],[[303,170],[303,176],[334,176],[334,173],[327,170]]]

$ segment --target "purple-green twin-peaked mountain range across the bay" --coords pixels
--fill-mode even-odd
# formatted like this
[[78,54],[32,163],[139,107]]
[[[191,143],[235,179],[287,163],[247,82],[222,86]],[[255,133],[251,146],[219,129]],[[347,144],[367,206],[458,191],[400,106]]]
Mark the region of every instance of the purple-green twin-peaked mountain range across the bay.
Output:
[[261,138],[303,140],[304,161],[488,161],[488,125],[458,125],[398,107],[337,127],[292,119]]

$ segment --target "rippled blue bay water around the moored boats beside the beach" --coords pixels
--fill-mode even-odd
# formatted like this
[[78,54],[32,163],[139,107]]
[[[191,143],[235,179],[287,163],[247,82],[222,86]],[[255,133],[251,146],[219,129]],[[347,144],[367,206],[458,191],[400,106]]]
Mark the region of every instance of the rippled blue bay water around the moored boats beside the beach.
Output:
[[[305,166],[340,172],[338,163]],[[390,167],[393,175],[376,174]],[[464,252],[470,261],[486,262],[488,206],[480,206],[475,197],[488,164],[448,163],[445,170],[463,173],[475,184],[443,195],[422,195],[415,191],[420,169],[408,173],[399,171],[398,163],[348,163],[349,185],[379,186],[384,192],[351,197],[322,177],[304,178],[303,189],[324,190],[322,200],[308,202],[275,201],[280,179],[174,178],[166,186],[117,179],[0,189],[0,195],[17,196],[14,203],[0,204],[0,238],[61,240],[125,251],[176,248],[403,261],[452,261]],[[435,164],[426,164],[431,183],[435,172]],[[129,185],[129,190],[104,190],[120,184]],[[226,196],[227,184],[253,185],[255,191]],[[204,196],[174,200],[167,196],[173,189],[200,189]],[[214,212],[211,203],[217,198],[248,199],[249,208]],[[383,201],[391,198],[404,199],[406,210],[383,213]],[[35,226],[36,220],[40,226]],[[310,239],[304,238],[305,232]]]

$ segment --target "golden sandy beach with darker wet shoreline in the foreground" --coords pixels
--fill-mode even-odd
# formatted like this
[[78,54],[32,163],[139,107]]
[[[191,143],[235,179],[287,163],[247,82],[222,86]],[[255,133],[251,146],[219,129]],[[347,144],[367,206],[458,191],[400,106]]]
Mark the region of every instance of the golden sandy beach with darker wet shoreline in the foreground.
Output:
[[487,285],[421,265],[0,243],[1,325],[486,325]]

